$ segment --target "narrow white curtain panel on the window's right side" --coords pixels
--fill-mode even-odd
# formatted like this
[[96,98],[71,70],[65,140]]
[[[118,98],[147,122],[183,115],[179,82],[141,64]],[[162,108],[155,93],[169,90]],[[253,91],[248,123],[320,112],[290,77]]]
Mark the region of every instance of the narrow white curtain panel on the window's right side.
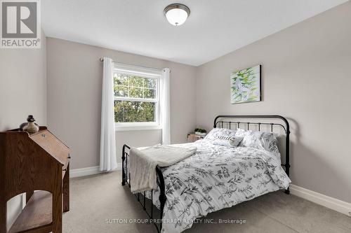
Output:
[[170,93],[169,93],[169,73],[165,68],[162,71],[160,82],[160,105],[161,105],[161,125],[162,125],[162,144],[171,143],[171,115],[170,115]]

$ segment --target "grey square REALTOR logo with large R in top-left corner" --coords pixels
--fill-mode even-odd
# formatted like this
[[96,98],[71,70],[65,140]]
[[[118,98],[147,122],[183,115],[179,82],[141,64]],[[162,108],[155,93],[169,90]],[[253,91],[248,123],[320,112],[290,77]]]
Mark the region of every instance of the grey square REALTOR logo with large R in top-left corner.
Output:
[[40,48],[39,0],[0,0],[0,48]]

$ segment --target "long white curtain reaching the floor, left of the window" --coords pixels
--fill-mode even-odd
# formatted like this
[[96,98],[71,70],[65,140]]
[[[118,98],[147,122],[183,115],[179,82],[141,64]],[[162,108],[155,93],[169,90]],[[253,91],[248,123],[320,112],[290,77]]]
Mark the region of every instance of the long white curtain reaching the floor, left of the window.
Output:
[[102,73],[100,171],[117,169],[114,132],[114,88],[112,59],[104,57]]

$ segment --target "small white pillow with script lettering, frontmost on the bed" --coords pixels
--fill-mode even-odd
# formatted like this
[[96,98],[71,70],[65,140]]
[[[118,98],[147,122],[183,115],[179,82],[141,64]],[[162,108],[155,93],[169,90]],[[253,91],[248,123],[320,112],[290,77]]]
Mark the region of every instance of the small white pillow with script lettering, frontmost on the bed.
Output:
[[238,146],[243,137],[235,136],[236,130],[214,128],[209,132],[205,139],[211,141],[213,145],[235,147]]

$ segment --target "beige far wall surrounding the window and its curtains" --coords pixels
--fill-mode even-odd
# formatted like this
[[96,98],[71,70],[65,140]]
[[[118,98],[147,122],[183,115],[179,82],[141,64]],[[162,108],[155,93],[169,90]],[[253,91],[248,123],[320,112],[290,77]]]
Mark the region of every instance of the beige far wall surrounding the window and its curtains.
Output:
[[[195,127],[195,67],[126,52],[47,38],[48,127],[72,149],[72,169],[99,164],[102,62],[171,69],[171,142],[186,141]],[[160,130],[117,132],[121,146],[161,142]],[[118,160],[120,162],[120,159]]]

